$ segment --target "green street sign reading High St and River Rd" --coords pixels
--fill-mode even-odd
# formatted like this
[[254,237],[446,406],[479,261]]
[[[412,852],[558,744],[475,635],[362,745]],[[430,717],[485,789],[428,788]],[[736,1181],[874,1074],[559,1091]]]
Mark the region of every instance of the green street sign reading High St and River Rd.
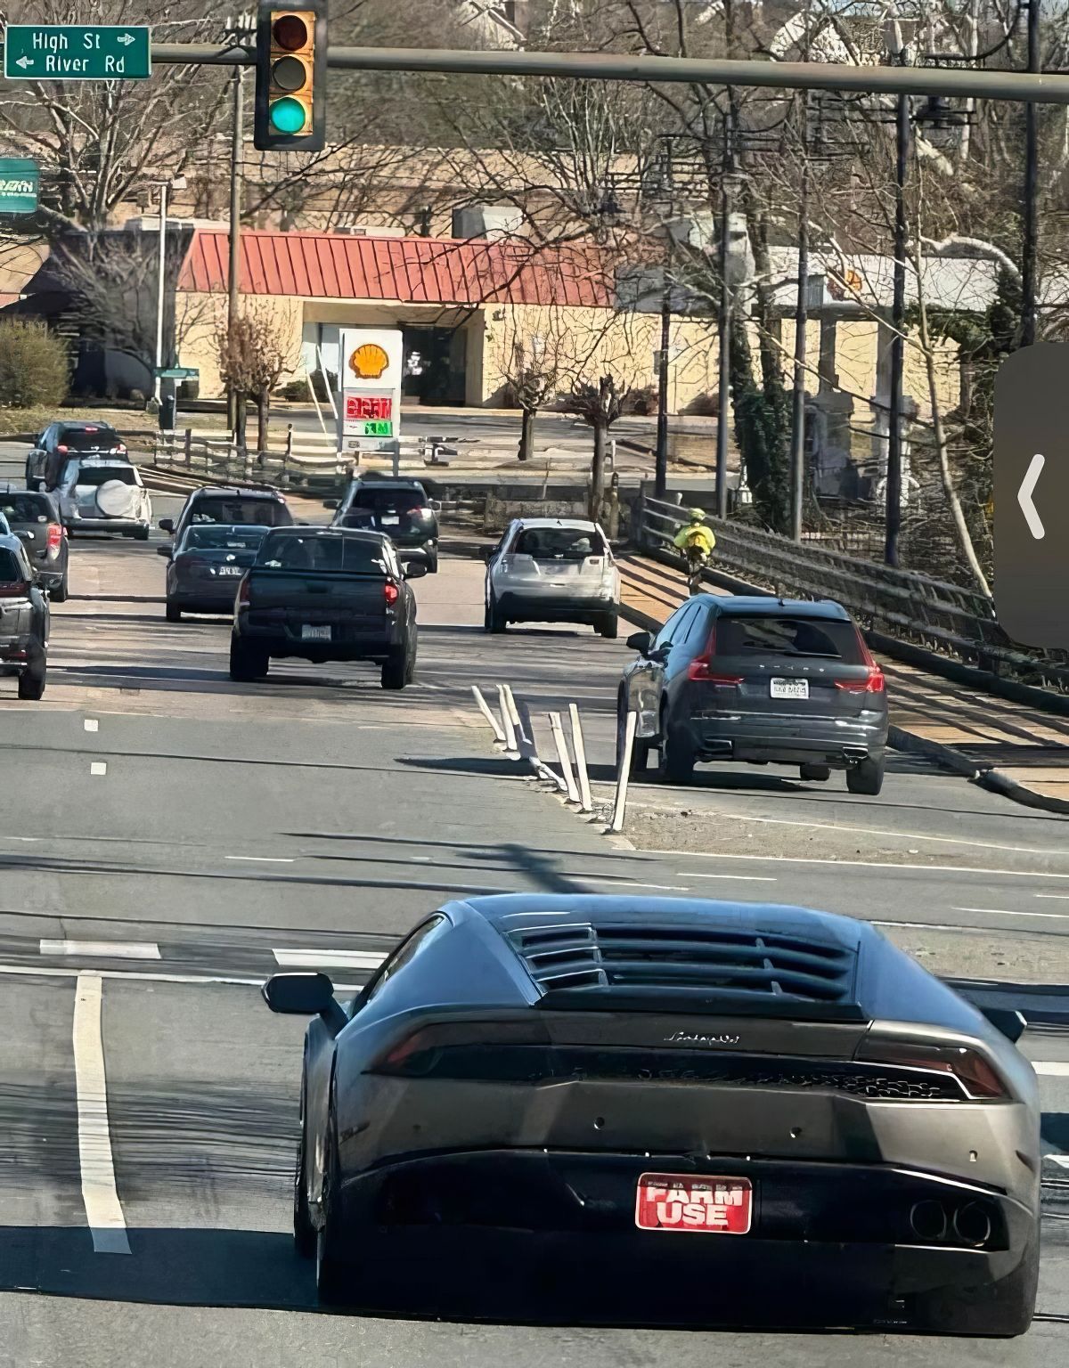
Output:
[[8,81],[146,81],[152,30],[120,23],[10,23]]

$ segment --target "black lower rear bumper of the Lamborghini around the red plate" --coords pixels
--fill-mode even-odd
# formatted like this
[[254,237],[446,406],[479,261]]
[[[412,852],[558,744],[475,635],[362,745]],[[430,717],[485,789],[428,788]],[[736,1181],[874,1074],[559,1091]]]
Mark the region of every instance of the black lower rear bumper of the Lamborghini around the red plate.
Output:
[[[698,1238],[688,1231],[684,1238],[638,1230],[635,1189],[649,1171],[750,1178],[750,1233]],[[954,1237],[920,1241],[910,1226],[918,1202],[940,1202],[949,1212],[979,1202],[990,1215],[991,1238],[980,1249]],[[512,1246],[520,1259],[545,1250],[579,1274],[597,1268],[594,1282],[602,1287],[609,1274],[639,1287],[646,1278],[683,1278],[691,1312],[723,1304],[728,1316],[743,1319],[768,1315],[787,1289],[803,1293],[802,1305],[814,1294],[868,1304],[879,1320],[910,1294],[998,1282],[1021,1263],[1036,1224],[1029,1209],[1003,1193],[891,1167],[723,1159],[697,1170],[680,1156],[554,1150],[454,1152],[391,1163],[344,1179],[341,1215],[352,1223],[355,1253],[357,1231],[368,1227],[411,1246],[416,1257],[448,1257],[450,1246],[494,1257]],[[590,1282],[583,1289],[586,1295]],[[694,1302],[698,1289],[702,1301]]]

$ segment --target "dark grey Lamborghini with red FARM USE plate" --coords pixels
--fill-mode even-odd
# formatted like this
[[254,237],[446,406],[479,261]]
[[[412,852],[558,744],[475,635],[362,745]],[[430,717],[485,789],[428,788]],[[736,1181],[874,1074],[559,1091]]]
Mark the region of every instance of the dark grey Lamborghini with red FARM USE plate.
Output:
[[487,1263],[493,1286],[519,1261],[531,1287],[556,1276],[556,1315],[623,1294],[643,1319],[664,1283],[704,1321],[1032,1319],[1035,1073],[864,921],[472,897],[346,1005],[323,974],[264,997],[318,1014],[294,1234],[324,1302]]

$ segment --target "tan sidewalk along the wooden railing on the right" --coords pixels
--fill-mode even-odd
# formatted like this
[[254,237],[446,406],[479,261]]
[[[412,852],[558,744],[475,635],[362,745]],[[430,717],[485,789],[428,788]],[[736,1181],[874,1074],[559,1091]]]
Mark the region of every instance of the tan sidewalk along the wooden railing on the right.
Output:
[[[660,624],[683,602],[679,570],[641,555],[624,555],[619,564],[624,616],[643,627]],[[1069,814],[1069,717],[977,694],[888,657],[879,659],[895,750],[932,755],[1020,803]]]

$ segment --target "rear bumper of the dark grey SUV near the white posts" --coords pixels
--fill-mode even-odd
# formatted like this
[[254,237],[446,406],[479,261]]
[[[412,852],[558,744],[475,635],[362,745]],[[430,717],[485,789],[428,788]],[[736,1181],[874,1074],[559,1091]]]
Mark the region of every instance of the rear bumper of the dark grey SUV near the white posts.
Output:
[[831,765],[881,761],[887,718],[762,717],[724,713],[682,724],[699,759],[769,761],[780,765]]

